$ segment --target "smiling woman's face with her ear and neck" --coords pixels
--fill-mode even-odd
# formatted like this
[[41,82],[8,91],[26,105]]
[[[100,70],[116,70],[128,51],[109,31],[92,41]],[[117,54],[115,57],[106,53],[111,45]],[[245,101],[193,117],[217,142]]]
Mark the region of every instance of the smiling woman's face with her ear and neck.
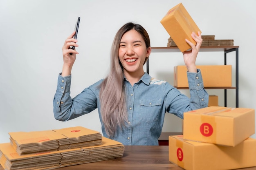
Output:
[[124,33],[119,46],[119,60],[124,68],[124,75],[141,77],[144,74],[144,62],[150,52],[151,48],[146,48],[144,39],[135,29]]

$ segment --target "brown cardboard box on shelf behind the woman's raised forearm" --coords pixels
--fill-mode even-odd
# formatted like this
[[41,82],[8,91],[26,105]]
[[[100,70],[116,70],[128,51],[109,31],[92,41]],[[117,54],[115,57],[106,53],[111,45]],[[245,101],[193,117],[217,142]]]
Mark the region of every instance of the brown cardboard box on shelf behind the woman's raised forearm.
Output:
[[[201,70],[204,87],[231,87],[231,65],[196,66]],[[189,87],[186,66],[174,67],[174,86]]]

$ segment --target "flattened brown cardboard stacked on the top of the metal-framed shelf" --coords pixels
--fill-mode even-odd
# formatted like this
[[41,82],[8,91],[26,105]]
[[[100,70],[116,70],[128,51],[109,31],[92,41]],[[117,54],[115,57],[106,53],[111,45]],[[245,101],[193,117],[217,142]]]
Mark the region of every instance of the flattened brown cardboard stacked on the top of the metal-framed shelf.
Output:
[[[215,35],[202,35],[201,46],[234,46],[234,40],[215,40]],[[185,40],[184,40],[185,41]],[[168,38],[167,47],[177,46],[174,40]]]

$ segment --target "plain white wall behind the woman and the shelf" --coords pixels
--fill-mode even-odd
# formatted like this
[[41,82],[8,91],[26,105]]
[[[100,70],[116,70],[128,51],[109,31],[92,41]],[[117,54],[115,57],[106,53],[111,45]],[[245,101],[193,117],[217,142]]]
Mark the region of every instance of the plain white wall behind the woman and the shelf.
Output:
[[[166,46],[169,35],[160,20],[180,2],[202,35],[233,39],[240,46],[239,107],[255,109],[255,0],[0,0],[0,143],[17,131],[84,126],[101,132],[97,110],[67,122],[55,120],[52,111],[61,48],[76,18],[81,17],[80,54],[72,70],[72,97],[106,75],[112,40],[126,22],[144,26],[152,47]],[[232,53],[228,64],[234,65]],[[223,64],[223,56],[201,52],[197,64]],[[182,53],[152,53],[150,75],[173,83],[173,66],[180,64]],[[224,105],[223,90],[208,92]],[[228,106],[235,107],[235,90],[228,90],[228,96]],[[181,123],[166,114],[163,132],[181,131]]]

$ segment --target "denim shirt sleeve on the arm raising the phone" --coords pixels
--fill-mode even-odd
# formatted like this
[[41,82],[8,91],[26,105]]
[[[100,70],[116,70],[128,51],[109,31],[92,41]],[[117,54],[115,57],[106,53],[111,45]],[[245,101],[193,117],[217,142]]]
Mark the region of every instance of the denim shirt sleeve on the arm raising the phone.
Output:
[[58,75],[58,84],[53,99],[54,117],[60,121],[74,119],[97,108],[97,96],[90,88],[85,88],[73,99],[70,96],[71,75]]

